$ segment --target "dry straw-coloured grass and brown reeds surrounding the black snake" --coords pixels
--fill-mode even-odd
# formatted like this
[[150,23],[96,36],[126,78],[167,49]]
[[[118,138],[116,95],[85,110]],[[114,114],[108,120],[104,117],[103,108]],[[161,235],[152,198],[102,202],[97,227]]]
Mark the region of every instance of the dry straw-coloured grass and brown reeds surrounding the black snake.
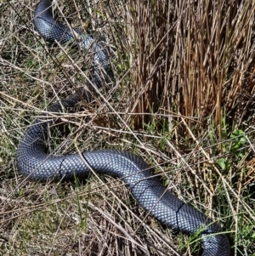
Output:
[[[231,255],[254,255],[254,1],[116,2],[58,2],[63,22],[97,31],[116,56],[113,81],[63,116],[71,133],[53,133],[51,151],[135,151],[224,225]],[[84,86],[91,64],[38,37],[36,3],[0,3],[0,255],[195,254],[190,236],[161,227],[120,181],[43,185],[19,175],[26,128]]]

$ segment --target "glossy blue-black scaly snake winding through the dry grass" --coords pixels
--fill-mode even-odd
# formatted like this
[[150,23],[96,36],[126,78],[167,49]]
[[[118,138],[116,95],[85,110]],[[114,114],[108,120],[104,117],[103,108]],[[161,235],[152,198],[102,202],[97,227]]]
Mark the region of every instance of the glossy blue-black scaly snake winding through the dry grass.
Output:
[[[35,11],[34,24],[37,31],[49,41],[65,43],[76,37],[77,29],[60,24],[54,20],[51,3],[41,0]],[[82,36],[88,48],[93,37]],[[99,48],[97,61],[104,65],[107,56]],[[48,111],[59,112],[77,104],[81,94],[55,103]],[[88,102],[89,94],[82,94]],[[74,175],[84,178],[90,168],[99,174],[121,178],[139,205],[149,211],[162,224],[185,233],[201,231],[203,256],[228,256],[229,241],[222,234],[222,228],[197,209],[179,200],[153,177],[153,169],[141,157],[128,151],[87,151],[79,154],[54,156],[46,153],[45,140],[48,138],[48,124],[37,118],[21,139],[17,151],[17,166],[20,173],[32,180],[48,181],[73,179]],[[88,167],[89,166],[89,167]]]

